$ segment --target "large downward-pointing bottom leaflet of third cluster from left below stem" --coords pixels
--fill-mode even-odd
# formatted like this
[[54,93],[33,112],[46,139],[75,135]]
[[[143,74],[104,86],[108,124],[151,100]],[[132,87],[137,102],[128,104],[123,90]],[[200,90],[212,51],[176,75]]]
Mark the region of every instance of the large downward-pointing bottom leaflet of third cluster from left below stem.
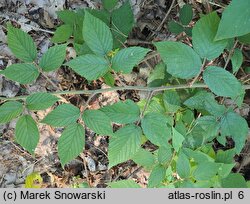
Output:
[[128,125],[117,132],[109,141],[109,169],[119,163],[125,162],[135,155],[141,146],[141,128]]

